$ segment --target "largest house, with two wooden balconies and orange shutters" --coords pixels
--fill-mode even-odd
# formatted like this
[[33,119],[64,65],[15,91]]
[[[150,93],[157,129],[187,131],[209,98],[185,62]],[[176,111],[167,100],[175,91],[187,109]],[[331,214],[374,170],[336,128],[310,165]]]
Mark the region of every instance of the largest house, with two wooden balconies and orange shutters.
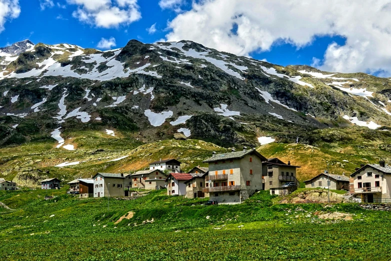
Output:
[[208,163],[208,186],[210,200],[218,203],[241,203],[255,191],[262,189],[262,162],[267,158],[254,148],[243,147],[241,151],[216,154],[204,160]]

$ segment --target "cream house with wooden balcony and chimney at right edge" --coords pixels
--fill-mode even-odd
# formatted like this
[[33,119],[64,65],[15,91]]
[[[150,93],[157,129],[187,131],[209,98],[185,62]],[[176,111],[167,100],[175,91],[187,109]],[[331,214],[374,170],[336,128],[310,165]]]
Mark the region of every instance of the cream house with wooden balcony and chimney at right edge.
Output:
[[391,166],[385,161],[362,164],[350,174],[349,191],[355,201],[385,202],[390,200]]

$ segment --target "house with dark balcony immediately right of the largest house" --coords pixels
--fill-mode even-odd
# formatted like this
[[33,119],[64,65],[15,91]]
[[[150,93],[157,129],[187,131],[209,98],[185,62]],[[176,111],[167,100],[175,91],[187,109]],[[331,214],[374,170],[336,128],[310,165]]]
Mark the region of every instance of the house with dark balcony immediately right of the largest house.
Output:
[[282,188],[282,185],[286,182],[294,182],[296,188],[299,186],[296,178],[296,168],[298,167],[300,166],[291,165],[290,161],[285,163],[276,157],[263,161],[262,188],[264,190],[270,190],[271,194],[273,194],[273,190],[278,190],[276,194],[291,192],[291,189],[287,190],[286,188]]

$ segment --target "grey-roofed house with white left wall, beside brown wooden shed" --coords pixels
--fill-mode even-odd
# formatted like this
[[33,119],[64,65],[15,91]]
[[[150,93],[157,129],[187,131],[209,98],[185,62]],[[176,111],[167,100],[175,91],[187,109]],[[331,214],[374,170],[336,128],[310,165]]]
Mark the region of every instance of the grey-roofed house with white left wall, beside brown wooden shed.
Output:
[[93,176],[93,197],[115,197],[124,196],[123,174],[101,173]]

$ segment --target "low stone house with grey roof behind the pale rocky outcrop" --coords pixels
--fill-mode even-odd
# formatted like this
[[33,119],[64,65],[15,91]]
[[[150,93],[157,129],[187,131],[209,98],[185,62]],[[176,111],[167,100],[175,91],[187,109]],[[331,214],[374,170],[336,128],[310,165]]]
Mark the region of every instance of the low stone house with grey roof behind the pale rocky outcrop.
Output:
[[[327,180],[329,180],[329,184],[327,183]],[[327,173],[327,171],[324,171],[324,173],[320,173],[311,179],[305,180],[305,187],[307,188],[315,188],[315,187],[321,187],[321,188],[328,188],[330,189],[337,189],[337,190],[349,190],[349,177],[342,175],[336,175],[336,174],[330,174]]]

